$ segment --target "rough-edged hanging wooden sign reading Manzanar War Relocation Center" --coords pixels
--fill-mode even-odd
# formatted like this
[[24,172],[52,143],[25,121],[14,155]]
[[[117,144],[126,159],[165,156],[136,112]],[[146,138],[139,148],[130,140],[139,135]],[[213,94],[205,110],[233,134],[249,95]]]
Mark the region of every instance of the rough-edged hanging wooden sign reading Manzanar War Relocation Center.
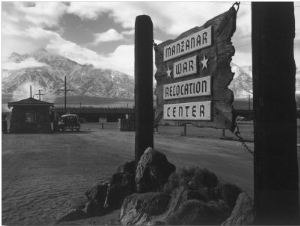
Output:
[[157,108],[155,123],[234,130],[234,55],[231,37],[236,9],[155,45]]

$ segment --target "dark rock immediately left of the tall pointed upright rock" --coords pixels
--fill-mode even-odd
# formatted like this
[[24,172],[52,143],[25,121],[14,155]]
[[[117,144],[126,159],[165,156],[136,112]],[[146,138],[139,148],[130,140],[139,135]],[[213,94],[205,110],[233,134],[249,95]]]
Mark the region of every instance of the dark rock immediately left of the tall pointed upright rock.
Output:
[[109,209],[117,209],[122,206],[126,196],[132,194],[135,189],[134,175],[126,172],[118,172],[112,175],[107,197],[104,203]]

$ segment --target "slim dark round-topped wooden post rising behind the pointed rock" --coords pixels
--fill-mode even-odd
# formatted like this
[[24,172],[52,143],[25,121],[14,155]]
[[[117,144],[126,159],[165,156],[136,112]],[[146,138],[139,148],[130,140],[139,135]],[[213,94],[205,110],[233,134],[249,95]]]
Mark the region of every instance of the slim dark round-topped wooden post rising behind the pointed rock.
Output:
[[153,148],[153,24],[147,15],[135,21],[135,164]]

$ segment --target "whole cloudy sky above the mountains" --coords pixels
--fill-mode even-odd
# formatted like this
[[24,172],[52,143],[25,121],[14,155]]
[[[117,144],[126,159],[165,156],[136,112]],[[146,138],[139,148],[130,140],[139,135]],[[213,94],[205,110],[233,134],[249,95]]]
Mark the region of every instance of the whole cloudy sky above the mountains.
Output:
[[[229,10],[235,1],[89,1],[89,2],[2,2],[2,69],[34,67],[29,59],[18,65],[7,60],[16,52],[40,48],[79,64],[118,70],[134,76],[134,25],[139,15],[151,17],[157,44],[174,39],[195,26]],[[300,67],[300,2],[295,2],[295,62]],[[232,62],[252,64],[251,3],[242,1],[237,29],[232,38],[236,49]]]

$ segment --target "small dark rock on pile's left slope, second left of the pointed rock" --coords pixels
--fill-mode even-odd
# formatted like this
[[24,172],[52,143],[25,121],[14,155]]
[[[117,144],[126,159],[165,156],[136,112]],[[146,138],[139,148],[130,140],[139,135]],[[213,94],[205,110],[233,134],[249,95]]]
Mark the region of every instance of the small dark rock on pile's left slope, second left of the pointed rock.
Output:
[[104,204],[107,196],[109,183],[106,181],[100,181],[94,184],[90,190],[85,192],[87,199],[89,200],[85,207],[85,212],[89,217],[103,215]]

